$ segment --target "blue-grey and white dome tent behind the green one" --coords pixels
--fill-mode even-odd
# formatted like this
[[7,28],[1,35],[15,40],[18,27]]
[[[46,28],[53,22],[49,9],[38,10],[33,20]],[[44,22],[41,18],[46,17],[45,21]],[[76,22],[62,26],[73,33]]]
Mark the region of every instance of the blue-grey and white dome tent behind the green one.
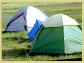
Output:
[[23,31],[28,30],[28,32],[34,26],[36,19],[45,21],[48,18],[42,11],[39,9],[28,6],[19,10],[7,24],[7,31]]

